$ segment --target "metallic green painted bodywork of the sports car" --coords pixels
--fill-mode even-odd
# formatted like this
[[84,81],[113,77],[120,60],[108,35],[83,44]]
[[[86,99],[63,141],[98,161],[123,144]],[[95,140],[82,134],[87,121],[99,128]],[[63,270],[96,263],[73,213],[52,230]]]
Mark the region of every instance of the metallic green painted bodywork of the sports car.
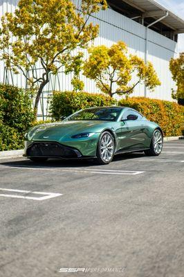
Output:
[[[123,108],[126,109],[126,108]],[[122,110],[123,110],[122,109]],[[79,150],[82,156],[96,156],[99,136],[109,130],[116,141],[116,153],[147,149],[151,143],[154,129],[159,128],[156,123],[142,120],[123,120],[122,113],[118,120],[64,120],[59,123],[37,125],[30,129],[25,141],[25,154],[28,146],[34,141],[55,141]],[[90,137],[72,139],[75,134],[90,132]]]

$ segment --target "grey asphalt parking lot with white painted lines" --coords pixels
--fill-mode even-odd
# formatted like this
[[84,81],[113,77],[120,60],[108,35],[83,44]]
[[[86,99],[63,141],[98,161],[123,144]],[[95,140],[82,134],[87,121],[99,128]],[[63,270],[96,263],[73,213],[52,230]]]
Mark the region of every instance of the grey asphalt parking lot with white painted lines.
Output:
[[108,166],[1,159],[0,276],[183,277],[183,186],[183,140]]

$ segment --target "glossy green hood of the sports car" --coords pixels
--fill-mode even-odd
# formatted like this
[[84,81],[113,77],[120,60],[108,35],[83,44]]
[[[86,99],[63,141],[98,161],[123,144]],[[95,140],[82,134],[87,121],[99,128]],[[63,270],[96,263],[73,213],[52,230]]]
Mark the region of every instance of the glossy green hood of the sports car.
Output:
[[37,125],[28,132],[28,140],[59,141],[82,132],[101,132],[107,121],[80,120]]

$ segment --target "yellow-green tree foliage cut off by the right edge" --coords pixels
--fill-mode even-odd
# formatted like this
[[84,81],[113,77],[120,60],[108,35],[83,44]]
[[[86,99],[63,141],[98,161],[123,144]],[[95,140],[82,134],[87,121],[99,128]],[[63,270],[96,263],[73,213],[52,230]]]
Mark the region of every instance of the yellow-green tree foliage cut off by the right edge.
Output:
[[172,97],[174,99],[184,99],[184,53],[180,53],[176,59],[172,58],[169,68],[172,72],[172,78],[177,85],[177,90],[172,91]]

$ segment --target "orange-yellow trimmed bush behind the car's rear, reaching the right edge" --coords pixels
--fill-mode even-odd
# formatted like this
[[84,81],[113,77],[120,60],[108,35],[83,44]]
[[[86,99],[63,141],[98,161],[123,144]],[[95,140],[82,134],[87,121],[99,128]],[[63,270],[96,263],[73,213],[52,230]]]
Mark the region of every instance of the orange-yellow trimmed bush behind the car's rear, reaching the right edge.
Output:
[[180,136],[182,134],[184,107],[175,102],[133,97],[120,100],[118,105],[140,111],[148,120],[158,123],[165,136]]

